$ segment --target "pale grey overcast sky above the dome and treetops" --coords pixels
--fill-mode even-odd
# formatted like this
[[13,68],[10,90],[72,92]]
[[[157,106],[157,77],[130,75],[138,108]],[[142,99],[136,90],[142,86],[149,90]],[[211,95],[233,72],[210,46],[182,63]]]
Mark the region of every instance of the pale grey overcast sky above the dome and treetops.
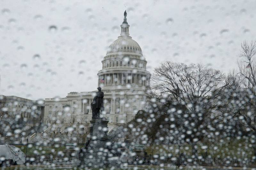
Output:
[[97,72],[120,35],[148,61],[236,68],[241,42],[255,40],[255,0],[0,0],[0,94],[32,100],[97,90]]

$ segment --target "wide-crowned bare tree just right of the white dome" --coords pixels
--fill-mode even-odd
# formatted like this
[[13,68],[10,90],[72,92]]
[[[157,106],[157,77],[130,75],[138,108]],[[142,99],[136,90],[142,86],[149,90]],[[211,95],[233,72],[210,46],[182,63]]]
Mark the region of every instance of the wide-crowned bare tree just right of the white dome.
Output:
[[177,143],[189,143],[192,158],[197,157],[196,144],[205,131],[216,130],[222,107],[216,99],[226,87],[224,78],[220,70],[202,64],[164,62],[154,70],[151,91],[157,94],[158,108],[169,114],[169,135]]

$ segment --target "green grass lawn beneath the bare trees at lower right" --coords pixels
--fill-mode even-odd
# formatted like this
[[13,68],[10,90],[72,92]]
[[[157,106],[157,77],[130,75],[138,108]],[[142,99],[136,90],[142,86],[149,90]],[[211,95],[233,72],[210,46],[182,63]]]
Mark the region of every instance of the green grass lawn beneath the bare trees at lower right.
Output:
[[[253,145],[250,144],[246,139],[237,138],[226,138],[220,139],[218,142],[212,144],[211,142],[198,142],[197,143],[197,153],[198,156],[211,156],[214,158],[236,158],[236,159],[252,159],[253,158]],[[145,147],[146,152],[151,154],[151,147]],[[191,145],[184,143],[180,147],[180,153],[185,153],[186,157],[190,157],[192,154]],[[170,145],[156,145],[153,146],[153,154],[159,154],[161,156],[168,156],[172,154],[173,157],[179,155],[179,147],[177,144]]]

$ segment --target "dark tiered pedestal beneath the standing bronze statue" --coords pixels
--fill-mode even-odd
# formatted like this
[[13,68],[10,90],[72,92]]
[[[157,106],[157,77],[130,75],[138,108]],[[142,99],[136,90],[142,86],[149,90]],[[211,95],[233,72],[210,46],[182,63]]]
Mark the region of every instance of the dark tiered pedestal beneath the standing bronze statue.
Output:
[[[78,152],[79,167],[118,166],[117,147],[108,137],[108,121],[93,119],[90,121],[90,137],[85,147]],[[116,147],[116,148],[115,148]]]

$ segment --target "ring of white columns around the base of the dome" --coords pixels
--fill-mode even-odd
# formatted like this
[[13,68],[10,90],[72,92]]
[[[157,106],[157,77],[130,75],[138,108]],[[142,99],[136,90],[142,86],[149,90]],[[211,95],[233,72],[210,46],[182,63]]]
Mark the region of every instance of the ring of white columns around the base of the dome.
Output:
[[132,84],[140,86],[149,86],[150,77],[143,74],[133,73],[109,73],[99,76],[98,86],[100,86],[100,79],[104,78],[104,85],[123,85]]

